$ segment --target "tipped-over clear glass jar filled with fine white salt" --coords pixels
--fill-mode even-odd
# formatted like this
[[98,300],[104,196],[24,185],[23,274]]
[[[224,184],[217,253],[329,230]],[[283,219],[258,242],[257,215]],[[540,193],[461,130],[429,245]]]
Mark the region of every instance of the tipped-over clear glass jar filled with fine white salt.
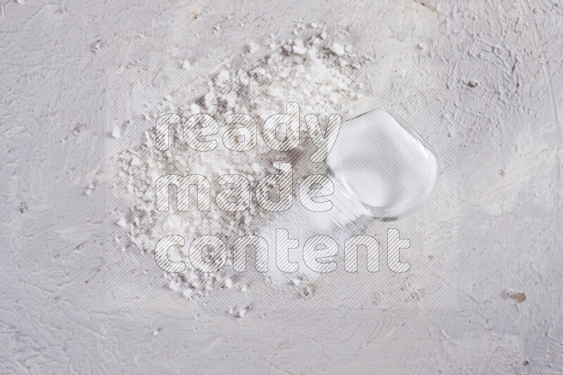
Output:
[[438,157],[405,120],[379,109],[342,124],[327,166],[329,216],[364,231],[374,218],[396,220],[421,206],[436,183]]

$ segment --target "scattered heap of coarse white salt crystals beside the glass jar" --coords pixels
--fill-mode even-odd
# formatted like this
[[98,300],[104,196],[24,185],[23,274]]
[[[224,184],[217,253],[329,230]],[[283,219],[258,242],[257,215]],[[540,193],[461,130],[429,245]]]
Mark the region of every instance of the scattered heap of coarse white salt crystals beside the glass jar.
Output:
[[[260,208],[254,197],[258,180],[267,174],[278,173],[272,166],[274,161],[291,161],[294,185],[303,176],[326,172],[325,164],[311,163],[309,155],[303,152],[305,146],[302,145],[310,142],[304,121],[305,114],[317,114],[322,126],[326,126],[329,114],[342,113],[345,103],[358,100],[358,91],[362,85],[357,84],[354,78],[362,63],[370,59],[355,55],[348,47],[345,52],[340,44],[329,44],[327,39],[326,29],[318,27],[317,34],[305,39],[281,42],[272,40],[269,55],[246,69],[232,70],[228,65],[225,66],[208,81],[203,95],[196,100],[182,102],[185,98],[181,95],[167,95],[156,110],[144,114],[146,120],[155,121],[160,115],[175,112],[182,117],[182,124],[191,114],[212,115],[220,125],[220,133],[214,137],[218,141],[215,150],[196,152],[189,149],[181,140],[177,129],[175,132],[170,131],[169,150],[159,151],[154,145],[153,131],[146,131],[143,145],[125,150],[115,158],[120,169],[115,191],[118,196],[127,196],[128,199],[133,197],[135,202],[132,209],[120,213],[121,217],[115,223],[126,232],[125,241],[121,242],[125,244],[123,251],[133,251],[138,256],[152,256],[160,238],[182,235],[186,239],[186,245],[178,248],[179,250],[172,248],[169,256],[171,261],[184,261],[186,270],[178,274],[163,272],[163,280],[180,296],[208,296],[213,289],[224,287],[246,291],[246,285],[238,285],[234,279],[229,278],[234,273],[230,254],[232,241],[240,235],[260,234],[276,215]],[[257,45],[251,44],[246,53],[252,53],[257,48]],[[262,125],[272,114],[284,113],[287,102],[300,105],[302,145],[292,152],[274,152],[265,145],[261,137]],[[224,117],[232,113],[250,114],[258,122],[258,146],[253,150],[235,152],[222,145],[222,133],[229,129],[224,124]],[[211,183],[210,211],[190,209],[179,212],[175,208],[174,194],[170,195],[170,211],[156,211],[155,182],[168,173],[184,176],[197,173],[207,177]],[[224,174],[240,174],[248,178],[251,183],[249,209],[236,213],[218,209],[214,199],[220,190],[217,179]],[[195,208],[195,195],[191,195],[190,200],[191,207]],[[295,188],[293,200],[296,201]],[[206,274],[191,267],[189,244],[200,235],[217,235],[227,244],[229,260],[221,272]],[[274,247],[274,244],[270,246]],[[205,254],[204,258],[205,256],[207,260],[213,258],[213,254]],[[248,258],[251,259],[252,256]],[[252,268],[253,261],[249,261],[247,270]],[[279,284],[281,280],[283,285],[296,288],[300,284],[299,278],[306,275],[288,275],[289,281],[271,275],[265,277],[274,283]],[[227,278],[229,279],[225,280]],[[243,312],[237,314],[242,316]]]

